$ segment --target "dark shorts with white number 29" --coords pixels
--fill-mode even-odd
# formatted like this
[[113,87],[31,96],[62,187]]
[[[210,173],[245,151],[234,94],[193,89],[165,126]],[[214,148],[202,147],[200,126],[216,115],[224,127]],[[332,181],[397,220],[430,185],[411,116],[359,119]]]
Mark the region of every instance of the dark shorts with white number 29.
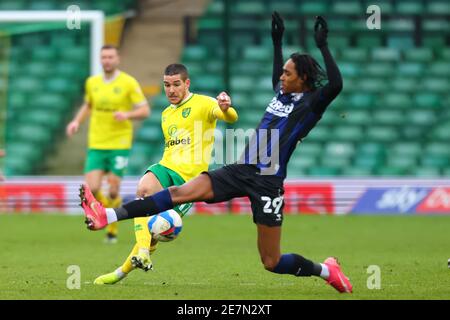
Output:
[[256,166],[247,164],[231,164],[203,173],[211,178],[214,191],[214,198],[207,203],[248,197],[255,223],[281,226],[284,207],[282,178],[261,175]]

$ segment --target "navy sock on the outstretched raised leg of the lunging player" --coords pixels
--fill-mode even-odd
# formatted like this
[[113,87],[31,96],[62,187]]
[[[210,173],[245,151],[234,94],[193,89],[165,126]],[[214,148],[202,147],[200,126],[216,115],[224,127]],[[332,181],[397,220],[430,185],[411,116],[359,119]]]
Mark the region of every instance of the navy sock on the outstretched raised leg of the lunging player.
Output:
[[139,198],[114,209],[117,220],[125,220],[136,217],[147,217],[174,207],[172,197],[168,189],[157,192],[152,196]]

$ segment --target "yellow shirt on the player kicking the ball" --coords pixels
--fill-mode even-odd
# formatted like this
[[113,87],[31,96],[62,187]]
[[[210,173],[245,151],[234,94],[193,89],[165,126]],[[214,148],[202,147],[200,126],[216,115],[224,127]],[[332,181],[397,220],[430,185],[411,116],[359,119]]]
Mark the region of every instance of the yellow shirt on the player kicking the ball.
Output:
[[161,114],[165,148],[159,163],[185,181],[208,170],[217,123],[216,108],[219,105],[215,99],[192,94],[184,103],[170,105]]

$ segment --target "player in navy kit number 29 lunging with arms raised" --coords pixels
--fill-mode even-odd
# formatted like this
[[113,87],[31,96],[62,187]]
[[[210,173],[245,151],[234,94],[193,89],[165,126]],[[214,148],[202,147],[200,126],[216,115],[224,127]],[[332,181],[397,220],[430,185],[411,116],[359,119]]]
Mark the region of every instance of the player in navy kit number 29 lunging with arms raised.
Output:
[[[258,250],[266,270],[319,276],[339,292],[352,292],[352,285],[337,259],[330,257],[323,263],[315,263],[298,254],[281,253],[283,181],[289,158],[342,90],[341,74],[328,49],[325,19],[316,17],[314,38],[324,58],[326,73],[308,54],[294,53],[283,66],[283,31],[283,20],[274,12],[272,81],[276,95],[238,163],[203,172],[181,186],[169,187],[115,209],[103,208],[83,185],[80,198],[89,229],[98,230],[118,220],[158,214],[182,203],[216,203],[248,197],[257,225]],[[321,81],[326,78],[328,83],[322,86]]]

